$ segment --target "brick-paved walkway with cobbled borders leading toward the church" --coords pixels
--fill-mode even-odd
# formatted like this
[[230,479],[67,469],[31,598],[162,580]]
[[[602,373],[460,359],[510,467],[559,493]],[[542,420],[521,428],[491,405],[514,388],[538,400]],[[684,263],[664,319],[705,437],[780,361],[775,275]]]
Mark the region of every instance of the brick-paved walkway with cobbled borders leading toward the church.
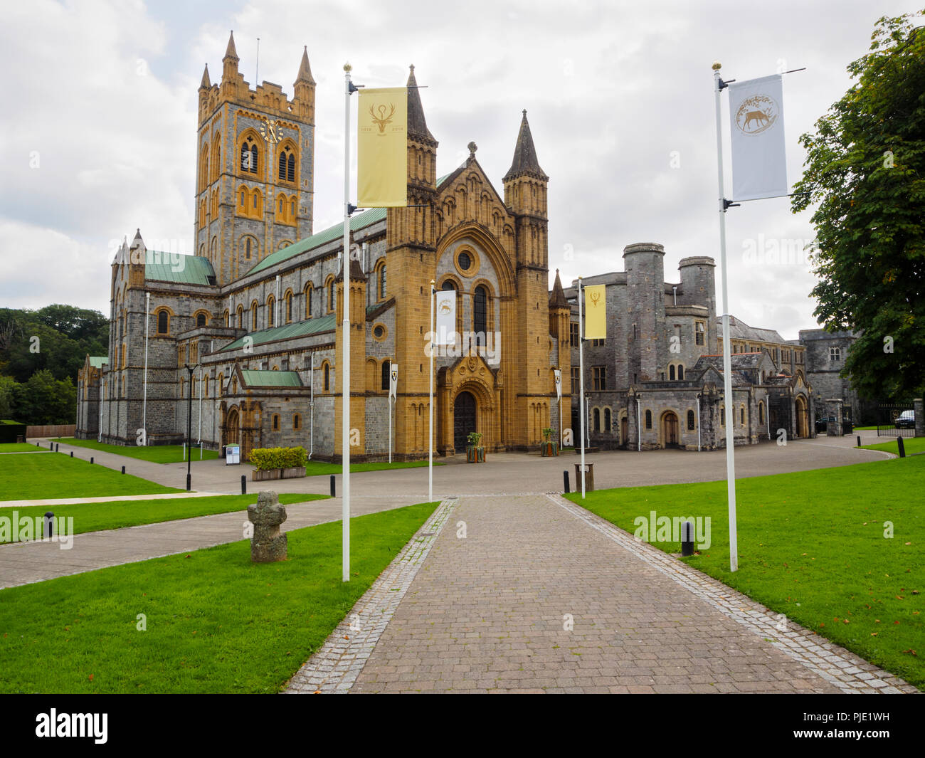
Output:
[[290,692],[916,691],[558,495],[448,501],[406,551]]

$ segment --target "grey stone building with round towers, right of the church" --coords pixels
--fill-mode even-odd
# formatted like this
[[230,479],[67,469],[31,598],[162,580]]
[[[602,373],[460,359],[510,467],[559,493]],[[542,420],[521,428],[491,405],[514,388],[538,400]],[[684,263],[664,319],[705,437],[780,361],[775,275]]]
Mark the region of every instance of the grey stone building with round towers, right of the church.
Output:
[[[679,264],[680,281],[664,280],[664,249],[627,245],[624,270],[589,277],[604,284],[607,337],[586,340],[585,376],[578,376],[578,281],[570,304],[573,440],[580,440],[579,382],[586,397],[586,442],[594,447],[650,450],[725,447],[722,323],[716,316],[712,258]],[[731,318],[735,444],[814,437],[814,393],[800,348],[771,329]],[[563,379],[564,380],[564,379]],[[783,434],[782,434],[783,433]]]

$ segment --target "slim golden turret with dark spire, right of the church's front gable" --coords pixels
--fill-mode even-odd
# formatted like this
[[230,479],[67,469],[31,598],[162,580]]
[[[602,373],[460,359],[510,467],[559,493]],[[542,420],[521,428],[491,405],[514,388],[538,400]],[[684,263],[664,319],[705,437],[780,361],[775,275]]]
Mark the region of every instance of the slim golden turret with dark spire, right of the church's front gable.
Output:
[[[515,414],[528,418],[531,400],[549,395],[549,177],[536,159],[525,110],[511,168],[503,181],[504,204],[514,216],[517,240],[517,334],[516,344],[502,345],[502,349],[515,351]],[[549,418],[540,423],[549,426]]]

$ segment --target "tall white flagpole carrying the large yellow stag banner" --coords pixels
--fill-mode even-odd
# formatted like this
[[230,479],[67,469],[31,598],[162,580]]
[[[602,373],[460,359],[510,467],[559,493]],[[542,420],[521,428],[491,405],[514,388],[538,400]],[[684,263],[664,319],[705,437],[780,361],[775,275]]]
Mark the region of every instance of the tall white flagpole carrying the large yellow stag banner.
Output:
[[344,276],[343,294],[343,350],[340,369],[340,386],[342,389],[343,412],[341,414],[343,425],[340,430],[340,461],[341,480],[343,490],[340,507],[340,520],[342,524],[342,556],[343,581],[350,581],[350,81],[351,65],[344,64],[344,250],[340,259],[341,270]]

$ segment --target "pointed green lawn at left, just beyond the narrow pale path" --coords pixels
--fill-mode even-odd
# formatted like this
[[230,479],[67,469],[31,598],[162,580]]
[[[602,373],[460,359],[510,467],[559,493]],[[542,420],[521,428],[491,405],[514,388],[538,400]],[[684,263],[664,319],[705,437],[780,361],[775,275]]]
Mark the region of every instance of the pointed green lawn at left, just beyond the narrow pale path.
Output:
[[63,453],[6,455],[0,464],[0,501],[182,491]]

